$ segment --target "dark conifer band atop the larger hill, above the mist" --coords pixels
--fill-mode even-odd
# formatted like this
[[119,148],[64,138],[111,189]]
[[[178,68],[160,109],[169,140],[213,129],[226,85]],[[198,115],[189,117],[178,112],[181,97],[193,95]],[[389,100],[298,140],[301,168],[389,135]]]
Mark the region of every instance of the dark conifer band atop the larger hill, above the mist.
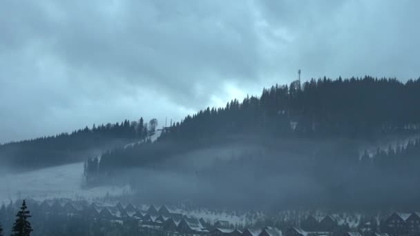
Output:
[[[312,79],[272,86],[260,97],[207,108],[164,130],[154,144],[102,156],[101,169],[142,166],[194,148],[244,137],[375,139],[420,130],[420,79]],[[251,138],[252,139],[252,138]],[[258,139],[256,139],[258,140]],[[118,159],[116,158],[118,157]]]

